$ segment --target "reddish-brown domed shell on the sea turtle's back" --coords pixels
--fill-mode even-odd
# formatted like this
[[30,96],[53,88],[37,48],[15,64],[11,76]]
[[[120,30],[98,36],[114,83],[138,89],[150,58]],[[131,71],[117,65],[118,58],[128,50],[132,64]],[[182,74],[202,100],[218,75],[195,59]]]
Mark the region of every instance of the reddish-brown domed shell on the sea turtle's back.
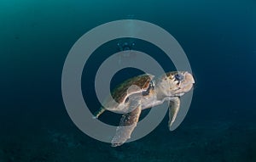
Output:
[[[148,75],[148,74],[137,75],[135,77],[132,77],[131,79],[128,79],[122,82],[121,84],[119,84],[119,86],[115,87],[111,92],[111,95],[117,103],[123,103],[125,102],[124,101],[125,98],[128,95],[130,95],[128,94],[130,92],[127,91],[129,87],[131,87],[132,85],[136,85],[137,87],[140,87],[143,92],[146,92],[153,78],[154,78],[154,75]],[[134,90],[134,92],[140,92],[140,91]]]

